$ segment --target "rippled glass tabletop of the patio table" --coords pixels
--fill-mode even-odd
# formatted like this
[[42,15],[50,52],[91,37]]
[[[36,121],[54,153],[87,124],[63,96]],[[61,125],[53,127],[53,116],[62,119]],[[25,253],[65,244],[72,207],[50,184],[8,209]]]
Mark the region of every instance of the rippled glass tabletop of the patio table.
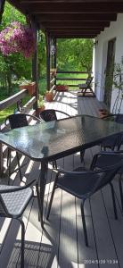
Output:
[[0,133],[0,141],[35,161],[53,160],[123,132],[123,124],[81,115]]

